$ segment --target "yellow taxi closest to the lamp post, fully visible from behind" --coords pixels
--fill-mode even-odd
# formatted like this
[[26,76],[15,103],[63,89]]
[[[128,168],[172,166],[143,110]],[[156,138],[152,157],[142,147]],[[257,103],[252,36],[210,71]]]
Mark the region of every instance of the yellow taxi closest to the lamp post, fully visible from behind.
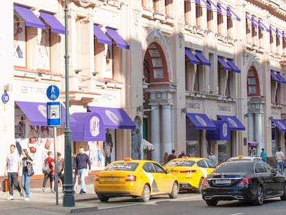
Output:
[[124,158],[111,162],[95,176],[94,189],[99,200],[132,196],[148,202],[150,196],[169,194],[177,198],[178,180],[169,170],[153,160]]

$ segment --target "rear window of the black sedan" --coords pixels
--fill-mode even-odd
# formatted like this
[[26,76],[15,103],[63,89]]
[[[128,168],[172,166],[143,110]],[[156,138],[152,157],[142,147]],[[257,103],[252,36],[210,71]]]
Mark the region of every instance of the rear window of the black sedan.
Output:
[[220,166],[216,167],[213,171],[214,173],[222,173],[222,172],[249,172],[253,171],[253,163],[252,162],[227,162],[223,163]]

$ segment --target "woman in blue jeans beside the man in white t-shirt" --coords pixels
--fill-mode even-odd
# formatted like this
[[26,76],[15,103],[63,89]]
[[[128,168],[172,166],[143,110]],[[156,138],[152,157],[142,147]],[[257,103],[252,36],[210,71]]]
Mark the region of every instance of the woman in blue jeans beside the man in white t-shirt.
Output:
[[23,187],[23,190],[25,191],[25,199],[24,200],[30,200],[30,179],[31,176],[28,175],[28,164],[30,165],[36,165],[36,163],[32,160],[32,158],[29,155],[29,152],[27,149],[23,149],[21,151],[22,153],[22,178],[21,178],[21,185]]

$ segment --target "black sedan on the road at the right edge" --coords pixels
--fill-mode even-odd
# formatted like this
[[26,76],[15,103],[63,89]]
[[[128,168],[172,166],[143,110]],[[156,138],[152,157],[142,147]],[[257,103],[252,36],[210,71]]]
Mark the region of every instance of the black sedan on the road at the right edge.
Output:
[[224,162],[202,181],[207,205],[219,200],[245,200],[263,205],[265,198],[286,200],[286,177],[261,160]]

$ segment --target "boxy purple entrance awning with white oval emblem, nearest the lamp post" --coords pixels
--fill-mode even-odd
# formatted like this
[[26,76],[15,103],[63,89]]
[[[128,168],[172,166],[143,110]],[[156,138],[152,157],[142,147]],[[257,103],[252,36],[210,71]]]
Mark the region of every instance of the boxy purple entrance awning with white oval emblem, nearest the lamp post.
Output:
[[73,141],[104,141],[105,128],[98,113],[73,113],[76,126],[71,126]]

